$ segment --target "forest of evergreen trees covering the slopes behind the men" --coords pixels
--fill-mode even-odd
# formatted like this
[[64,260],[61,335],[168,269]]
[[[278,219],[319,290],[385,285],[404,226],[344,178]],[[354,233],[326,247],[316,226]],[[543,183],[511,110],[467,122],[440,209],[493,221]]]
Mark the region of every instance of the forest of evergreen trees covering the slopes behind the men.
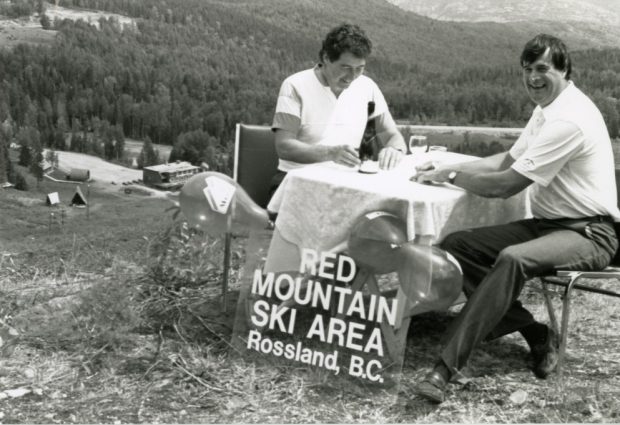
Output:
[[[377,6],[378,0],[362,1],[363,11],[352,7],[357,15],[336,14],[325,24],[317,22],[339,13],[331,8],[344,7],[343,2],[60,0],[61,6],[137,20],[137,27],[130,28],[102,19],[100,29],[83,21],[50,22],[39,0],[5,4],[0,9],[5,15],[43,9],[42,20],[58,35],[51,47],[24,44],[0,50],[0,174],[9,171],[6,152],[12,141],[33,152],[71,149],[122,160],[125,137],[173,145],[170,160],[206,162],[228,171],[235,123],[270,123],[281,81],[312,66],[320,37],[345,18],[359,19],[377,34],[367,73],[382,88],[396,119],[524,125],[532,104],[521,86],[520,43],[509,52],[512,61],[504,48],[512,41],[504,39],[489,41],[480,57],[467,57],[458,51],[463,47],[456,37],[469,44],[477,30],[451,26],[436,29],[447,38],[433,36],[437,46],[455,45],[455,50],[434,49],[425,37],[439,24],[420,18],[419,32],[399,33],[397,40],[407,37],[407,42],[388,44],[391,27],[373,26],[367,17],[386,20],[393,13]],[[271,10],[288,13],[286,25],[278,25]],[[392,27],[405,25],[401,17],[389,19],[396,20]],[[495,35],[481,37],[475,43]],[[620,50],[578,51],[573,59],[576,84],[597,103],[611,136],[618,137]]]

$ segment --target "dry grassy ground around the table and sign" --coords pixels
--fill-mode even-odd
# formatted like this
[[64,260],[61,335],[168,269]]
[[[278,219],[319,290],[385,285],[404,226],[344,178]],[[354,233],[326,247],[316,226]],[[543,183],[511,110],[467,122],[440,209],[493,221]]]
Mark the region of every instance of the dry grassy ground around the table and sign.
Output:
[[[475,352],[472,381],[451,385],[447,402],[418,399],[414,384],[432,366],[450,320],[437,313],[412,321],[397,396],[373,395],[307,368],[234,355],[229,340],[245,241],[234,246],[233,292],[223,312],[220,241],[175,223],[161,200],[100,196],[96,220],[77,213],[63,232],[50,233],[40,222],[47,207],[0,192],[2,225],[28,224],[22,237],[4,233],[10,237],[1,245],[11,255],[0,265],[0,315],[20,333],[2,347],[3,422],[619,420],[620,309],[610,298],[576,296],[563,384],[536,379],[524,342],[509,336]],[[18,212],[26,204],[24,218]],[[546,318],[538,294],[528,291],[523,300]],[[10,394],[21,395],[7,395],[18,389]]]

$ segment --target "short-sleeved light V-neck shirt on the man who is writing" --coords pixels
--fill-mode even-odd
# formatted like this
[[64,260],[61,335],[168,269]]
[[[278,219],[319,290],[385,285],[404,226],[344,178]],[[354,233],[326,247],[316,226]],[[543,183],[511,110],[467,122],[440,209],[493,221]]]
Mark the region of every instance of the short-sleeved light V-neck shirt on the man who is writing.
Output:
[[[291,75],[282,83],[273,129],[285,129],[308,144],[341,145],[357,148],[368,121],[368,102],[375,102],[374,117],[389,114],[377,84],[361,75],[340,96],[321,84],[314,69]],[[391,119],[391,117],[390,117]],[[290,171],[306,164],[280,159],[278,168]]]

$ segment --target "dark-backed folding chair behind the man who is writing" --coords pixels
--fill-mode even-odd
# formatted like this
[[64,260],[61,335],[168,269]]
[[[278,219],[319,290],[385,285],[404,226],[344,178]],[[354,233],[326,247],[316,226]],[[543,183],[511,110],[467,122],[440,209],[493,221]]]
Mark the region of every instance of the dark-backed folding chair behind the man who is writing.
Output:
[[[269,202],[271,178],[278,169],[275,136],[271,128],[263,125],[237,124],[235,131],[235,157],[233,179],[259,206]],[[232,233],[224,239],[224,271],[222,277],[222,305],[226,310],[226,294],[230,274]]]

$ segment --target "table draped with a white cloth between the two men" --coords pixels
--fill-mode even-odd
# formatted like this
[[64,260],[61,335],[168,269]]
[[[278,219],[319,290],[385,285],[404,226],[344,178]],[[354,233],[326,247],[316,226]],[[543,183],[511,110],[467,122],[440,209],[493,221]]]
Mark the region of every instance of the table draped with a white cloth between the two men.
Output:
[[[267,209],[278,213],[264,272],[290,272],[300,264],[300,249],[346,251],[351,227],[373,211],[400,217],[410,241],[435,244],[462,229],[502,224],[529,215],[524,193],[509,199],[483,198],[450,184],[410,181],[415,166],[427,161],[457,163],[475,157],[442,151],[408,155],[393,170],[362,174],[334,163],[313,164],[289,172]],[[367,286],[376,293],[374,276],[361,273],[354,289]],[[400,350],[409,318],[407,299],[398,291],[398,321],[388,339]],[[394,331],[394,332],[392,332]],[[400,341],[400,342],[399,342]],[[397,351],[394,348],[394,351]]]

